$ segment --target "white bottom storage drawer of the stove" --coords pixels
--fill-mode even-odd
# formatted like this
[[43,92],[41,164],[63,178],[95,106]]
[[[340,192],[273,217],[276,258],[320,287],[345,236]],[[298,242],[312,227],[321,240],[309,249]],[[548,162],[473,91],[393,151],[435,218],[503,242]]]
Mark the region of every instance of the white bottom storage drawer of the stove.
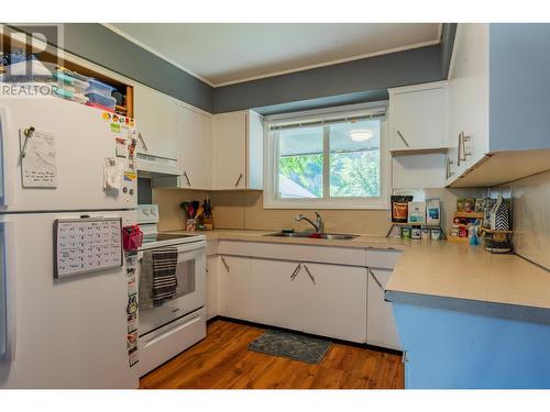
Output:
[[200,309],[145,336],[140,336],[140,377],[206,337],[206,312]]

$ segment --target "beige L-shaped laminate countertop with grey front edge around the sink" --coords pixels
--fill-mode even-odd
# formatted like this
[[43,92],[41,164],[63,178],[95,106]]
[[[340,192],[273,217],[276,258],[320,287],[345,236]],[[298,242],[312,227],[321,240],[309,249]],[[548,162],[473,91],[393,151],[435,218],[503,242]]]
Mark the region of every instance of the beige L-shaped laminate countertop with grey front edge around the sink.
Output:
[[[166,233],[184,233],[166,231]],[[359,235],[348,241],[265,236],[274,231],[196,232],[207,240],[399,249],[386,285],[386,299],[520,320],[550,322],[550,272],[517,255],[497,255],[482,246]]]

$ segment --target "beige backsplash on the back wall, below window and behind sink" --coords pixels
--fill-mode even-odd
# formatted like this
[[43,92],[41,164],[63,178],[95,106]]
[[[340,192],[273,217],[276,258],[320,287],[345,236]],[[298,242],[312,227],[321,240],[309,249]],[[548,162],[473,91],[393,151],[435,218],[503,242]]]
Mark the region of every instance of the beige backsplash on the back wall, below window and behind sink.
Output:
[[[403,190],[399,193],[404,192]],[[441,200],[441,215],[443,230],[451,222],[452,213],[457,210],[457,199],[464,197],[486,196],[486,189],[425,189],[415,190],[415,199],[439,198]],[[264,209],[262,191],[197,191],[184,189],[153,190],[153,201],[158,203],[161,220],[158,229],[184,230],[185,222],[179,203],[189,200],[202,200],[210,196],[212,201],[215,229],[248,229],[273,230],[283,227],[308,230],[308,223],[296,222],[298,213],[312,215],[314,210],[298,209]],[[386,235],[391,226],[389,210],[333,210],[319,209],[324,221],[327,232],[362,233]]]

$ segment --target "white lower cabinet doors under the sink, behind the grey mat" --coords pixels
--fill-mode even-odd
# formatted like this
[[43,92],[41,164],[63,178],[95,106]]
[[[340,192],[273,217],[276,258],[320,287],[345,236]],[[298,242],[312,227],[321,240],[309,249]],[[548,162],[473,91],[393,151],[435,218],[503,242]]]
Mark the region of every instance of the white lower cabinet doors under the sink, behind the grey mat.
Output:
[[221,314],[366,342],[366,268],[235,256],[220,261]]

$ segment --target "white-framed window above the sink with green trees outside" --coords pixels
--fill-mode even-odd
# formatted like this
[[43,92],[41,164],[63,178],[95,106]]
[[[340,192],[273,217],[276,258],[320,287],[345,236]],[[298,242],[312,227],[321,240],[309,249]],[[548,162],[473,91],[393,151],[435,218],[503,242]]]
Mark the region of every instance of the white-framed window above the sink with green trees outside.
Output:
[[361,112],[271,118],[267,127],[266,208],[387,208],[380,103]]

